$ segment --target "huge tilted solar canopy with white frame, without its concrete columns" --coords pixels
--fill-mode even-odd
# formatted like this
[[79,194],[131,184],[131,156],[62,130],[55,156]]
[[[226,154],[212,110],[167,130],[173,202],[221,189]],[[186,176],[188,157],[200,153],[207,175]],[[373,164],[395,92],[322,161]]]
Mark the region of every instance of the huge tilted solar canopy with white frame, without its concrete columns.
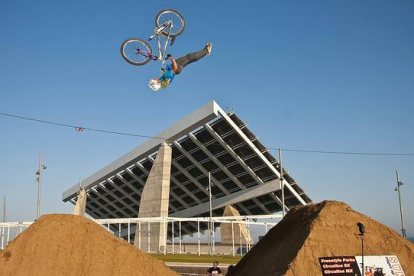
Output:
[[[170,217],[213,216],[226,205],[241,215],[282,210],[279,162],[235,113],[212,101],[82,181],[86,212],[96,219],[137,217],[140,197],[162,142],[172,148]],[[284,170],[286,211],[311,199]],[[63,193],[76,203],[79,184]],[[183,226],[187,234],[194,225]]]

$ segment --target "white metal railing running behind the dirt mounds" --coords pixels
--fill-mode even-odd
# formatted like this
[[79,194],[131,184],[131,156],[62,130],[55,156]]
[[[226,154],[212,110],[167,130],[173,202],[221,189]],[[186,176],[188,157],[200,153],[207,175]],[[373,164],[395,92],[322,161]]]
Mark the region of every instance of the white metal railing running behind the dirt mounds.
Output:
[[[135,233],[138,235],[135,236],[135,239],[138,239],[138,242],[135,242],[136,246],[143,251],[149,253],[184,253],[182,251],[183,245],[186,243],[183,242],[184,236],[183,235],[183,227],[182,224],[192,223],[194,228],[197,229],[193,234],[197,236],[192,238],[196,240],[196,250],[195,252],[198,255],[207,253],[214,255],[217,252],[217,237],[215,235],[215,231],[211,231],[212,237],[209,239],[211,241],[207,244],[209,250],[205,252],[202,248],[206,247],[206,244],[202,244],[201,240],[202,237],[206,237],[205,234],[202,234],[204,230],[201,229],[200,224],[205,223],[210,225],[212,223],[212,229],[216,229],[219,225],[223,224],[231,224],[231,244],[227,245],[230,250],[227,252],[229,255],[235,256],[236,254],[243,255],[247,253],[251,246],[252,242],[249,242],[246,236],[250,235],[250,228],[251,227],[259,227],[262,229],[263,234],[266,234],[270,228],[276,225],[275,222],[259,222],[257,220],[260,219],[281,219],[281,214],[275,215],[262,215],[262,216],[228,216],[228,217],[193,217],[193,218],[176,218],[176,217],[155,217],[155,218],[118,218],[118,219],[91,219],[95,223],[104,227],[107,231],[113,233],[118,238],[124,239],[128,241],[128,243],[133,243],[131,240],[131,233]],[[15,239],[20,233],[22,233],[25,229],[27,229],[33,222],[3,222],[0,223],[0,236],[1,236],[1,244],[0,248],[4,249],[10,241]],[[151,250],[151,224],[163,226],[164,231],[164,243],[162,244],[163,251],[152,251]],[[175,226],[178,224],[178,231],[171,231],[171,236],[168,238],[167,231],[168,227],[171,226],[171,229],[176,229]],[[238,226],[238,233],[236,233],[235,226]],[[245,226],[247,235],[242,233],[242,225]],[[148,231],[143,232],[142,228],[147,227]],[[196,226],[196,227],[195,227]],[[138,231],[136,231],[138,229]],[[160,228],[161,229],[161,228]],[[175,232],[178,232],[176,235]],[[210,233],[210,231],[208,231]],[[144,241],[144,239],[146,239]],[[176,244],[176,239],[178,242]],[[170,243],[167,243],[167,240],[170,240]],[[194,243],[193,243],[194,244]],[[144,248],[143,246],[147,246]],[[178,250],[176,250],[176,246],[178,246]],[[167,248],[169,248],[167,250]],[[194,251],[194,250],[193,250]],[[204,251],[204,252],[203,252]],[[185,252],[188,253],[188,252]],[[220,253],[226,254],[226,253]]]

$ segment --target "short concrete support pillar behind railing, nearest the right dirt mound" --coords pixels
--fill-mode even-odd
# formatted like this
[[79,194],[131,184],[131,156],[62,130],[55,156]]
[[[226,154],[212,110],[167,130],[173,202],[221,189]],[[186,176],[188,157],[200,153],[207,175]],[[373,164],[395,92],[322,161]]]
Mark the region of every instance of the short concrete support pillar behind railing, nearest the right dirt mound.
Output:
[[[231,205],[227,205],[224,208],[223,217],[230,217],[230,216],[240,216],[240,213]],[[241,221],[241,219],[234,219],[234,221]],[[232,229],[230,223],[222,223],[220,227],[221,232],[221,243],[223,244],[232,244]],[[247,229],[245,224],[241,223],[233,223],[233,233],[234,233],[234,240],[236,244],[240,241],[240,233],[241,233],[241,240],[243,244],[253,244],[253,239],[250,235],[249,230]]]

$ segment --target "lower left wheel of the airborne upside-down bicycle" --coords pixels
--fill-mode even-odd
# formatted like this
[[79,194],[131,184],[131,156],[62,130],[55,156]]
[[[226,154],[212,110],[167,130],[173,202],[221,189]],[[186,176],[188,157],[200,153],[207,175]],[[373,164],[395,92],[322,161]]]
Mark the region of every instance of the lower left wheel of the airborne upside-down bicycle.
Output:
[[121,44],[121,55],[126,62],[142,66],[152,59],[152,49],[147,42],[140,38],[128,38]]

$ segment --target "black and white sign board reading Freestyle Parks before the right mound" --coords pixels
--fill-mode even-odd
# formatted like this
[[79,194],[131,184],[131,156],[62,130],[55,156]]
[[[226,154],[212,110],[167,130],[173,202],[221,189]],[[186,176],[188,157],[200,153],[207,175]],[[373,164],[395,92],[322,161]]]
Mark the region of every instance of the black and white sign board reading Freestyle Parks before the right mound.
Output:
[[338,256],[319,258],[323,276],[405,276],[397,256]]

